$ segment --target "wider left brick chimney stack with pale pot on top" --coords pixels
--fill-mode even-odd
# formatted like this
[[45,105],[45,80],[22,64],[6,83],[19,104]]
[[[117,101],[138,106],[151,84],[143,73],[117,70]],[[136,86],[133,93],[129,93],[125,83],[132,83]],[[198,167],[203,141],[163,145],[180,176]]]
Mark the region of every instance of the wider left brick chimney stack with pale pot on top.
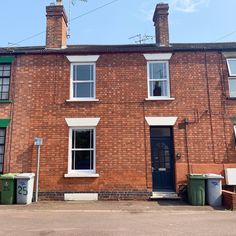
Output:
[[62,0],[46,7],[47,33],[46,48],[65,48],[67,38],[67,16]]

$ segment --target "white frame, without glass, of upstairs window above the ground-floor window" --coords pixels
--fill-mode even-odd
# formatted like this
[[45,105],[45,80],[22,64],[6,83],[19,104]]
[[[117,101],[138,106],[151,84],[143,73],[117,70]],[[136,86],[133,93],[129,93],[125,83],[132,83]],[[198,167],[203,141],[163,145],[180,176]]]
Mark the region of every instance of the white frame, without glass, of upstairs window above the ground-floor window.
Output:
[[[93,80],[92,81],[73,81],[73,67],[76,65],[92,65],[93,66]],[[93,97],[74,97],[74,83],[93,83]],[[95,62],[72,62],[70,65],[70,100],[71,101],[89,101],[96,99],[96,63]]]

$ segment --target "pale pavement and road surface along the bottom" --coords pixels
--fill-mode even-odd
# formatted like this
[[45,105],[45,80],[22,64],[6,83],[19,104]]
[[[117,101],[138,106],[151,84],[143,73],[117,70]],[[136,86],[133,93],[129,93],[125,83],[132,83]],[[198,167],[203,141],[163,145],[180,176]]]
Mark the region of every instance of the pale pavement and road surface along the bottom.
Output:
[[236,235],[236,212],[176,200],[0,205],[0,235]]

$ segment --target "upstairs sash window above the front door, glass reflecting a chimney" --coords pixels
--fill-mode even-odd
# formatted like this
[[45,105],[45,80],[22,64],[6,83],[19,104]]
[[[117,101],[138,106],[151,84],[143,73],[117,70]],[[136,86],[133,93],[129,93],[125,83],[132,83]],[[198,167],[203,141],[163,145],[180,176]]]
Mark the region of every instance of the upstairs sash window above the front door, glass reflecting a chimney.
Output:
[[148,62],[148,97],[170,97],[169,65],[167,61]]

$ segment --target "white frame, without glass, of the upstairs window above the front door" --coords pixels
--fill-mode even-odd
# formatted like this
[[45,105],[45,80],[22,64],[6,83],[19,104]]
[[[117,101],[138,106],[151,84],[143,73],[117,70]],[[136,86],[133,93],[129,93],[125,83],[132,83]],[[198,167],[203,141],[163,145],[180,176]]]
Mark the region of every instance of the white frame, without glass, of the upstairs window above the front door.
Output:
[[[155,79],[150,80],[150,64],[166,64],[166,76],[167,79]],[[151,96],[150,94],[150,82],[153,81],[166,81],[167,82],[167,96]],[[167,60],[154,60],[154,61],[147,61],[147,89],[148,89],[148,99],[163,99],[163,98],[170,98],[170,71],[169,71],[169,61]]]

